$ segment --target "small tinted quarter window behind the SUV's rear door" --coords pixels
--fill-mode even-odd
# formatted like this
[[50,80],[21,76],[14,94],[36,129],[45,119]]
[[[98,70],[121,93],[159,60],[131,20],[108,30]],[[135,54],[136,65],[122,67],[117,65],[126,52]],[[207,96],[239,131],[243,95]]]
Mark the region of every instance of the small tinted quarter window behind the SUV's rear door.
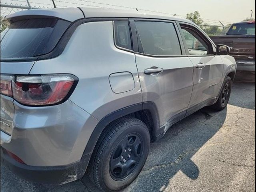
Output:
[[128,21],[115,21],[116,45],[126,49],[132,49],[130,28]]

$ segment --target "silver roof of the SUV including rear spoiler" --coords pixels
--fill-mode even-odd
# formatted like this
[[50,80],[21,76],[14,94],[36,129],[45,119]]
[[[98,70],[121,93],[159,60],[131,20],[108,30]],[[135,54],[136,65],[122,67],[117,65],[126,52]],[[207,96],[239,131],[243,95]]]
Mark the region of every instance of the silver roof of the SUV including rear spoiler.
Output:
[[[190,20],[170,17],[164,14],[151,14],[144,11],[136,10],[118,10],[109,8],[52,8],[52,9],[31,9],[24,10],[10,14],[4,18],[9,22],[14,22],[18,18],[30,18],[30,17],[56,17],[70,22],[82,18],[151,18],[151,19],[164,19],[164,20],[175,20],[180,22],[187,22],[194,24]],[[15,19],[16,18],[16,19]]]

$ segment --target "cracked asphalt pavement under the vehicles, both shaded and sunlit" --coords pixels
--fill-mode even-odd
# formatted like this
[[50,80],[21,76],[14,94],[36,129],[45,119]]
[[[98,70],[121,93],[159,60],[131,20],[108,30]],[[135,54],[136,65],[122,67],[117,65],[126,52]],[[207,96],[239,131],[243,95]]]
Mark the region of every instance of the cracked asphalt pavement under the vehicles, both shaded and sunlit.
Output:
[[[1,165],[1,192],[26,191],[100,192],[86,176],[47,186]],[[151,191],[255,191],[255,75],[237,74],[226,110],[203,108],[151,144],[142,172],[123,192]]]

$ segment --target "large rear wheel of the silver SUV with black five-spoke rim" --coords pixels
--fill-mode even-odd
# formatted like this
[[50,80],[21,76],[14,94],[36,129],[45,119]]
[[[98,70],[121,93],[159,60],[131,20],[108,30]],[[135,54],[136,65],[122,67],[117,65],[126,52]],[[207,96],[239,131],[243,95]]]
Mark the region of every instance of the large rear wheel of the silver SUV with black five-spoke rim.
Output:
[[149,146],[150,133],[142,121],[124,117],[110,123],[90,159],[89,178],[104,191],[126,188],[142,170]]

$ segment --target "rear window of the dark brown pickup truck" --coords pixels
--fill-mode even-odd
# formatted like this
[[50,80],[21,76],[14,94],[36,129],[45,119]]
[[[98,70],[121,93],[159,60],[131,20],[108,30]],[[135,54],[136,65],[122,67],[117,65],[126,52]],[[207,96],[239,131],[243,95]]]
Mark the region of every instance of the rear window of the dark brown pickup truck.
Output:
[[255,23],[234,24],[227,35],[255,35]]

